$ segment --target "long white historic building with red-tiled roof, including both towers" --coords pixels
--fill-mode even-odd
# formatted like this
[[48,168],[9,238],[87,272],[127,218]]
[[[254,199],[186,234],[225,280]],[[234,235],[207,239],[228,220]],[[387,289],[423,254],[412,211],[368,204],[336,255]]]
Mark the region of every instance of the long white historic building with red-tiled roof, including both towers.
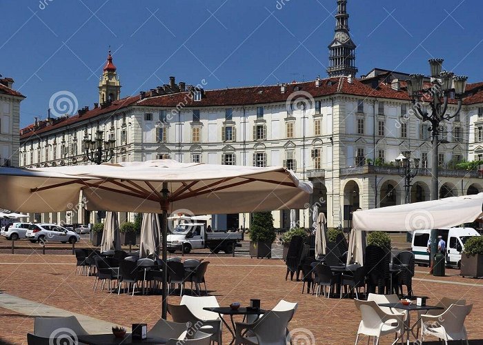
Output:
[[[120,98],[121,84],[109,55],[99,103],[21,130],[21,166],[90,164],[83,155],[83,139],[102,130],[105,139],[116,140],[112,162],[175,159],[285,166],[314,184],[310,205],[297,215],[301,226],[311,226],[311,209],[317,205],[326,213],[328,226],[348,227],[359,207],[404,203],[404,178],[394,164],[404,154],[421,161],[410,186],[411,202],[428,200],[431,138],[428,124],[411,115],[404,81],[408,75],[375,69],[356,79],[346,1],[337,4],[328,78],[205,90],[204,81],[189,86],[170,77],[169,84]],[[451,99],[448,111],[455,108]],[[447,121],[443,132],[440,195],[483,192],[478,170],[455,170],[457,162],[483,155],[483,83],[468,86],[460,117]],[[274,217],[276,227],[288,228],[288,211],[274,212]],[[94,221],[95,215],[72,211],[33,219],[83,223]],[[248,214],[213,219],[220,229],[250,223]]]

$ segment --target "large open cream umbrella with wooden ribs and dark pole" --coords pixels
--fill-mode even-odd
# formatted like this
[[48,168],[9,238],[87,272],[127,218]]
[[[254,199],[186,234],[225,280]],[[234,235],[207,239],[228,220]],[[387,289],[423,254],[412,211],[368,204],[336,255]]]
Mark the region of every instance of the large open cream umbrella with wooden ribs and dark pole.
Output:
[[[0,207],[26,213],[69,210],[83,197],[87,210],[163,213],[166,262],[168,213],[195,215],[304,208],[312,185],[282,167],[225,166],[157,161],[0,168]],[[163,306],[166,318],[164,269]]]

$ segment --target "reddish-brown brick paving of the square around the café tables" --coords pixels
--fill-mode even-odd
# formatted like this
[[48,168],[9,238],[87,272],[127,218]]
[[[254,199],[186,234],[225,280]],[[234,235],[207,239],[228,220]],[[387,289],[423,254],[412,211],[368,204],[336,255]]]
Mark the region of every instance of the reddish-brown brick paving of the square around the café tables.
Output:
[[[196,257],[190,255],[190,258]],[[272,308],[280,299],[299,302],[297,313],[290,323],[292,330],[308,335],[312,342],[297,344],[353,344],[359,313],[351,299],[327,299],[302,294],[301,282],[286,282],[284,262],[279,259],[250,259],[249,257],[199,256],[210,261],[206,275],[208,290],[217,296],[220,305],[241,302],[250,298],[262,300],[262,308]],[[92,290],[94,277],[74,275],[73,255],[0,255],[0,290],[34,302],[63,308],[129,327],[146,322],[152,326],[161,314],[159,295],[116,295],[106,290]],[[413,281],[417,295],[431,297],[428,304],[442,296],[466,298],[473,311],[466,319],[471,339],[483,339],[483,282],[456,276],[457,270],[447,270],[448,277],[427,275],[427,268],[417,268]],[[180,297],[168,297],[168,303],[179,303]],[[0,308],[1,340],[26,344],[26,333],[33,331],[33,319]],[[311,338],[313,337],[313,338]],[[224,339],[230,339],[224,334]],[[381,344],[391,344],[391,337]],[[364,343],[364,342],[362,342]],[[474,344],[483,344],[476,341]]]

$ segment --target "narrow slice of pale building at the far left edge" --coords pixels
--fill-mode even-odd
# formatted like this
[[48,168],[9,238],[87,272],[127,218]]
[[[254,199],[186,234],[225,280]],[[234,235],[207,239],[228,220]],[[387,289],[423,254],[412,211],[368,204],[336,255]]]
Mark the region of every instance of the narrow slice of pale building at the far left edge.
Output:
[[0,166],[19,166],[20,102],[12,78],[0,76]]

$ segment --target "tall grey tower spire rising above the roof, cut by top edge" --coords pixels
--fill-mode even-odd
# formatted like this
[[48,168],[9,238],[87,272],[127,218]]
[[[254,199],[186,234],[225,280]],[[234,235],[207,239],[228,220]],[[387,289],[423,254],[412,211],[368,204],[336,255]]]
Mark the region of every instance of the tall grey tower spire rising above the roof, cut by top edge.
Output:
[[355,67],[355,44],[349,34],[347,14],[347,0],[337,0],[337,14],[335,14],[335,35],[332,43],[328,46],[329,77],[341,75],[353,75],[357,73]]

